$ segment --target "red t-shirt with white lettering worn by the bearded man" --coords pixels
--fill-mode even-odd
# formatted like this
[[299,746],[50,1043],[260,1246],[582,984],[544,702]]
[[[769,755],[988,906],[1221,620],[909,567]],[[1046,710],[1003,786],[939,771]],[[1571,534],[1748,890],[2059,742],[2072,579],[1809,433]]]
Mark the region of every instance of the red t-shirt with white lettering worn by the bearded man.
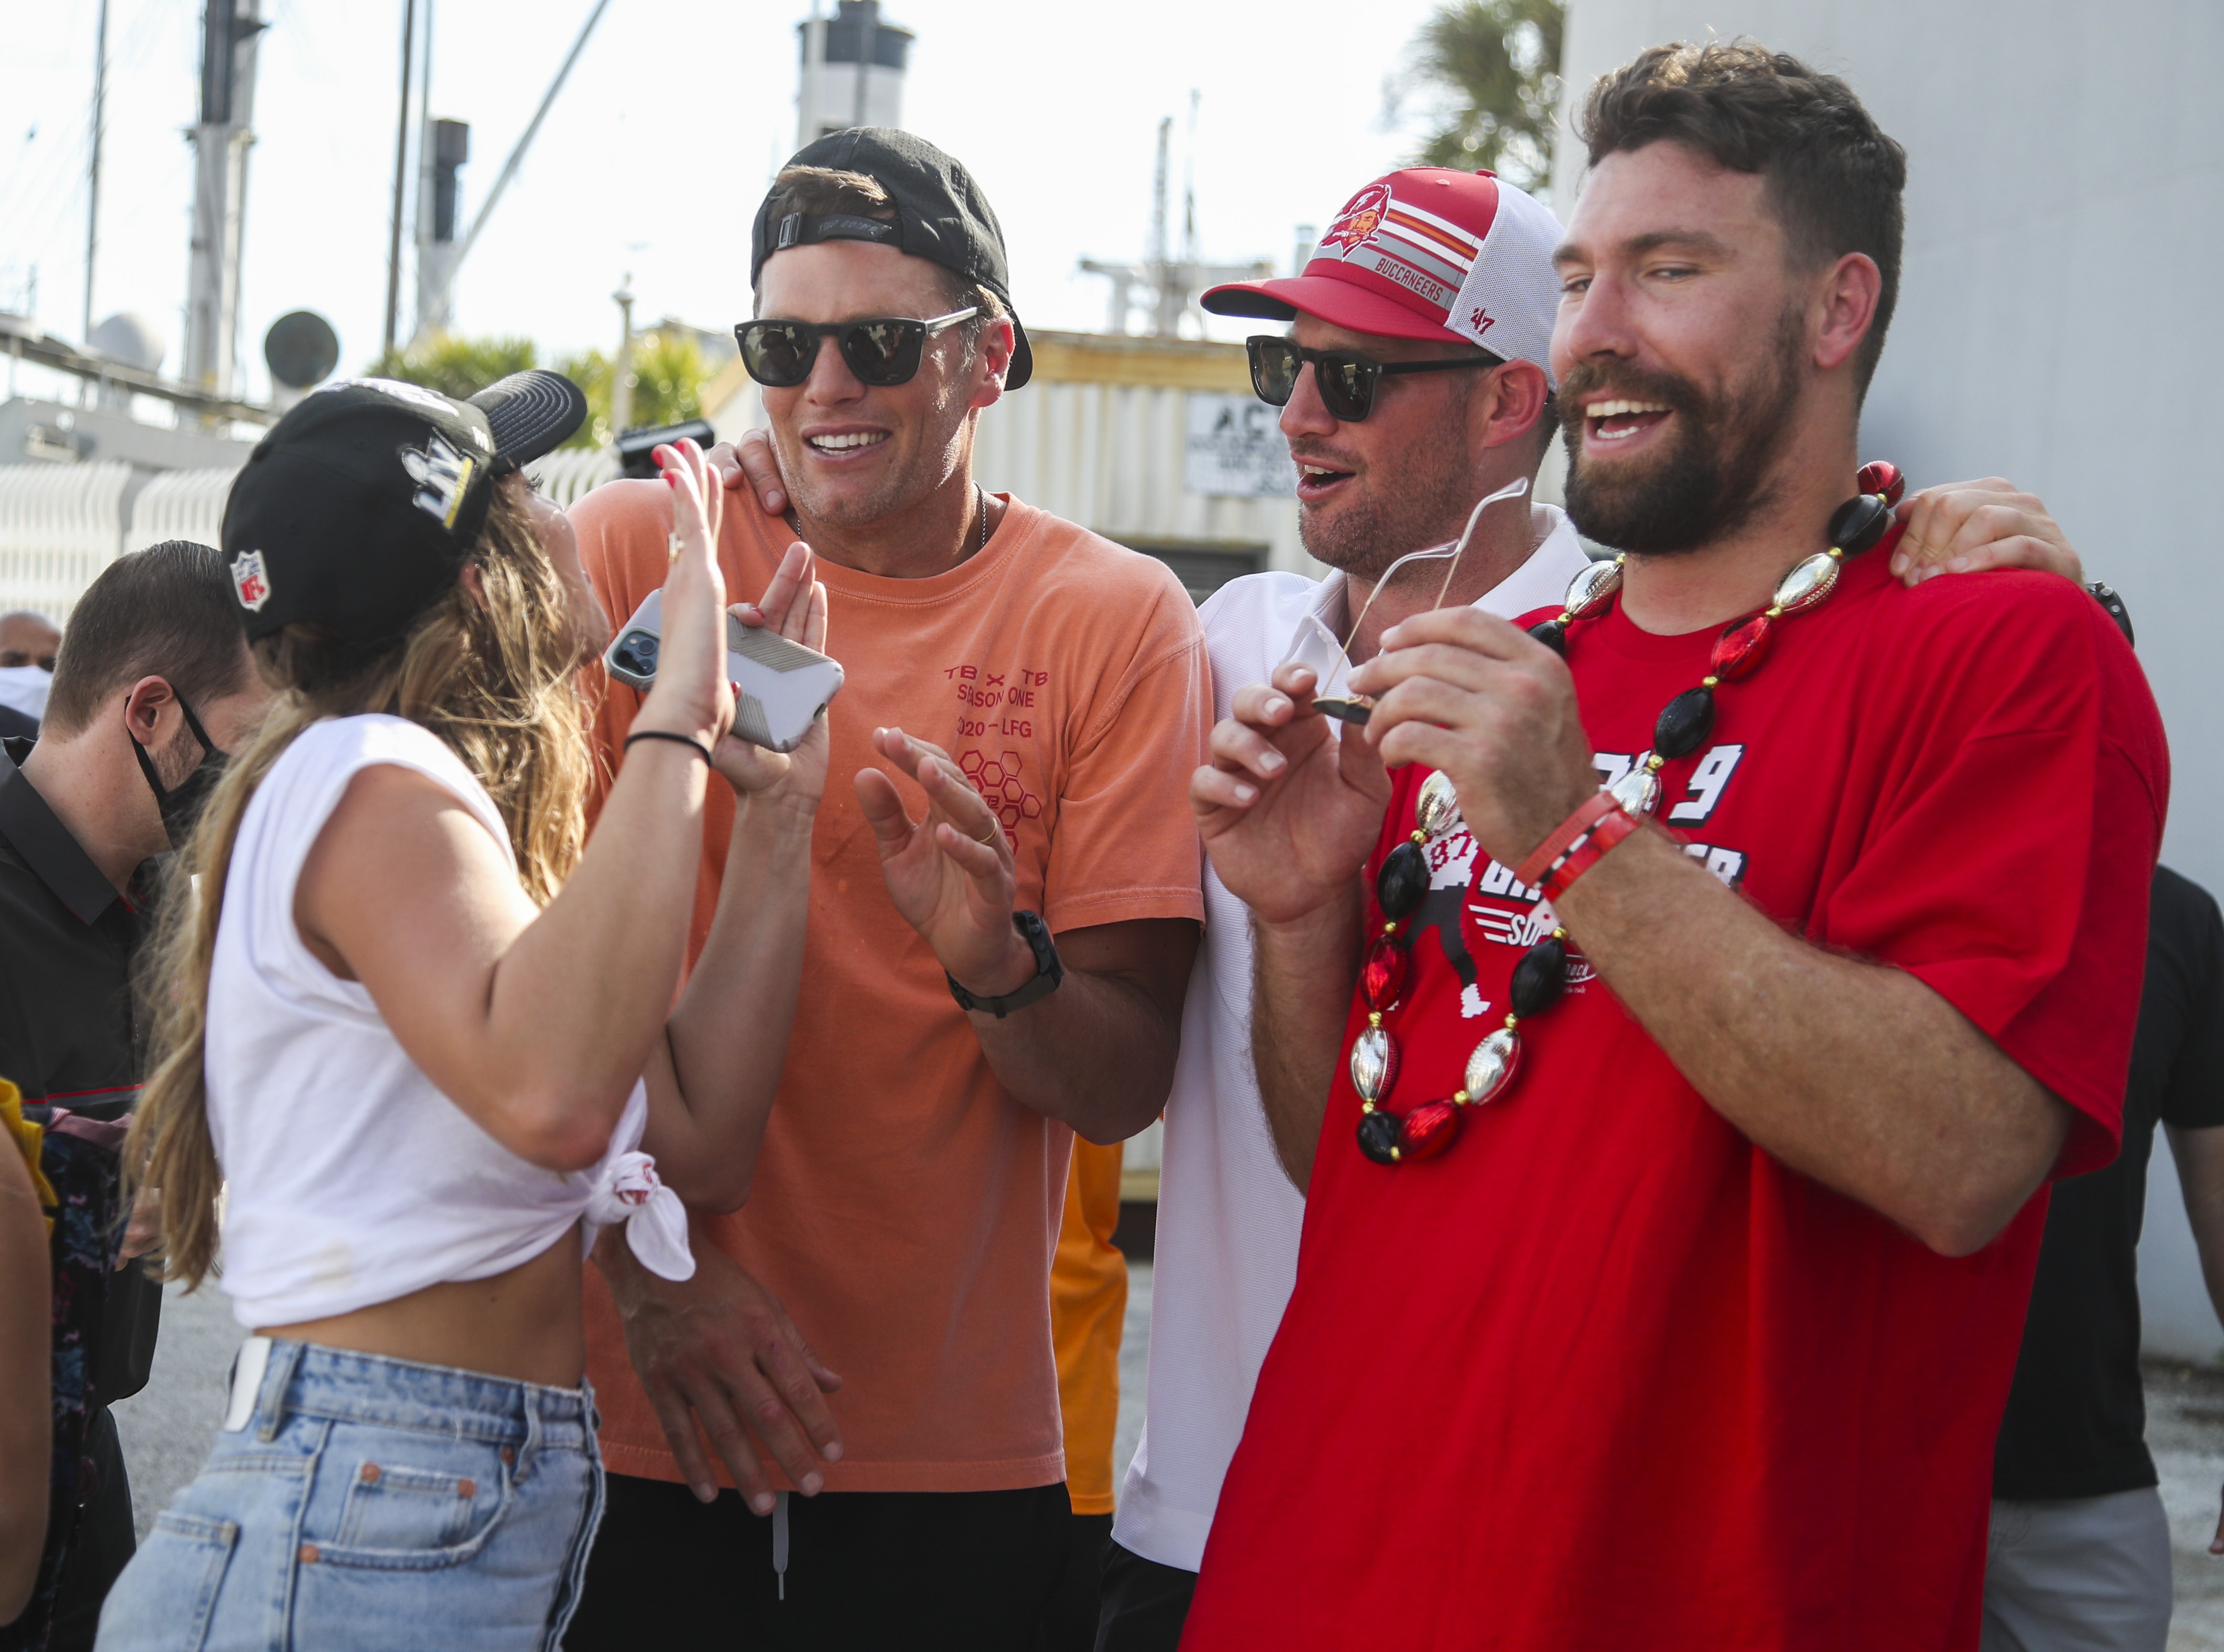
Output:
[[[1604,776],[1650,747],[1712,640],[1619,607],[1572,627]],[[1397,776],[1372,865],[1423,778]],[[1726,885],[1915,974],[2062,1096],[2057,1174],[2113,1156],[2168,754],[2084,591],[1910,591],[1855,560],[1661,780],[1657,818]],[[1459,1085],[1552,927],[1463,829],[1430,869],[1388,1016],[1397,1114]],[[1515,1085],[1439,1158],[1363,1158],[1339,1061],[1297,1294],[1183,1648],[1975,1648],[2044,1196],[1944,1258],[1755,1147],[1599,976],[1570,974],[1521,1025]],[[1361,1025],[1354,1003],[1346,1049]]]

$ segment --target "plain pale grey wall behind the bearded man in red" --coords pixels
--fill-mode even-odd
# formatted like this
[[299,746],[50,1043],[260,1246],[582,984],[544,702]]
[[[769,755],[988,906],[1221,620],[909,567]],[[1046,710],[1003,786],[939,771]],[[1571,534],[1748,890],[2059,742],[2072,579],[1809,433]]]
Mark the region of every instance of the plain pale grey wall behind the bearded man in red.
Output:
[[[2177,772],[2164,860],[2224,894],[2217,458],[2191,409],[2220,367],[2224,7],[2215,0],[1568,0],[1568,105],[1661,40],[1750,33],[1846,76],[1908,149],[1899,316],[1861,427],[1917,485],[2035,489],[2131,603]],[[1581,151],[1561,140],[1568,218]],[[2139,1252],[2148,1345],[2213,1356],[2168,1152]]]

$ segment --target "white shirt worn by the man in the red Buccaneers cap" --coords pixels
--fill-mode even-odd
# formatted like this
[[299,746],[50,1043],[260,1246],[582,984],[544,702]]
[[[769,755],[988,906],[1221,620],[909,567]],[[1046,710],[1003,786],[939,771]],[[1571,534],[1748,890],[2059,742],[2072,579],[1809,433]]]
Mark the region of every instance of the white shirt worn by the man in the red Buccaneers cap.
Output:
[[[1559,603],[1583,567],[1566,514],[1532,507],[1541,543],[1475,607],[1515,618]],[[1199,609],[1212,654],[1214,716],[1245,683],[1290,658],[1308,616],[1343,634],[1343,576],[1230,580]],[[1274,1156],[1250,1058],[1250,918],[1205,865],[1205,936],[1181,1012],[1181,1061],[1165,1103],[1159,1234],[1150,1294],[1143,1436],[1112,1536],[1159,1565],[1194,1572],[1259,1363],[1297,1278],[1305,1198]]]

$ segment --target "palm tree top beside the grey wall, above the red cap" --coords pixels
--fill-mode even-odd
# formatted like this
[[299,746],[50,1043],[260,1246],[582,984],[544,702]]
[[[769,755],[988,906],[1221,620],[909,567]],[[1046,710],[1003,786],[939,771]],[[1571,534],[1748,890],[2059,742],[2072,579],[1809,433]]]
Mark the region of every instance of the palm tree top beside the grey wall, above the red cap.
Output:
[[1559,105],[1561,0],[1446,0],[1414,36],[1406,80],[1383,89],[1394,122],[1428,98],[1417,167],[1490,167],[1546,193]]

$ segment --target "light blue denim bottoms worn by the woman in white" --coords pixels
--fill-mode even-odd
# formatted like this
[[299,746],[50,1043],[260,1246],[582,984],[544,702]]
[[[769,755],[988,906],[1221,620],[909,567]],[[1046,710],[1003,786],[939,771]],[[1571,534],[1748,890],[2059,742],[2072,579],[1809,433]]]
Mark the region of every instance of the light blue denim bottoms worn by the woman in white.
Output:
[[592,1390],[267,1350],[100,1650],[556,1648],[603,1519]]

